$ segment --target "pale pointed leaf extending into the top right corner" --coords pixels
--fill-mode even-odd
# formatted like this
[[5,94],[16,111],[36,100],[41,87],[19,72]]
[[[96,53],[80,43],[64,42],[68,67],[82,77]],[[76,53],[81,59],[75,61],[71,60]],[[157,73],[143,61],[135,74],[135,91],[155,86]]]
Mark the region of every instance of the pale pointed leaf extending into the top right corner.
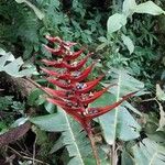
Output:
[[147,1],[144,3],[140,3],[134,8],[134,12],[136,13],[147,13],[152,15],[165,14],[165,11],[156,6],[153,1]]

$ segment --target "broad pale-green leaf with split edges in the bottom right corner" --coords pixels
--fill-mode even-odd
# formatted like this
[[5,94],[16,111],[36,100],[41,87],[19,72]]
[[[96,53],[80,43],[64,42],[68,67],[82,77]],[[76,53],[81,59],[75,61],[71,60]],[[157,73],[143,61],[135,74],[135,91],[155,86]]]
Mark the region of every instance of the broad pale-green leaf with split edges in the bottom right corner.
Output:
[[165,147],[150,139],[132,147],[134,163],[138,165],[164,165]]

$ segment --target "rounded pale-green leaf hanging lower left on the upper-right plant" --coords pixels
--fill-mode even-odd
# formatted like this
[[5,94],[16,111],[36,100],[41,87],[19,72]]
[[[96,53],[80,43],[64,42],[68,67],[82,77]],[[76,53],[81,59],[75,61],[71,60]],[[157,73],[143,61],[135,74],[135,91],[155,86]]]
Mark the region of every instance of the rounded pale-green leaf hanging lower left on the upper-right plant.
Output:
[[123,25],[127,24],[127,16],[124,14],[116,13],[108,19],[107,30],[111,34],[120,30]]

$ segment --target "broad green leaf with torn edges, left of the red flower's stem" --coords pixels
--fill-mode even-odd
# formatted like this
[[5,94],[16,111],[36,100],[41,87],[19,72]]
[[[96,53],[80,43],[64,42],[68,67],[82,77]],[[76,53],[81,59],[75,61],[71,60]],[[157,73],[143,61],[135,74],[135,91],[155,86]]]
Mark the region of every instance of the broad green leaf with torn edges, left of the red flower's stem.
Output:
[[57,113],[36,117],[30,121],[44,131],[62,132],[51,153],[65,146],[70,157],[68,165],[86,165],[87,162],[90,162],[91,165],[96,164],[86,132],[61,108]]

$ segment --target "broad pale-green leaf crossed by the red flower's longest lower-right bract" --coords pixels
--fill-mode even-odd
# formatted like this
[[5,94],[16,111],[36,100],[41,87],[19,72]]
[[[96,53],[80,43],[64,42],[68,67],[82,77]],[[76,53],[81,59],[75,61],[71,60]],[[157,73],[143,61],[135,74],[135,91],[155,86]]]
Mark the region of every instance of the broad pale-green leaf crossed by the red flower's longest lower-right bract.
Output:
[[[124,70],[112,69],[110,75],[113,78],[110,84],[117,84],[118,86],[114,86],[109,90],[111,94],[108,92],[91,103],[92,107],[119,101],[125,94],[138,91],[144,87],[141,81],[136,80]],[[110,145],[114,143],[117,138],[122,141],[130,141],[140,136],[141,127],[128,111],[127,106],[138,114],[141,114],[128,102],[123,102],[114,110],[98,118],[105,140]]]

